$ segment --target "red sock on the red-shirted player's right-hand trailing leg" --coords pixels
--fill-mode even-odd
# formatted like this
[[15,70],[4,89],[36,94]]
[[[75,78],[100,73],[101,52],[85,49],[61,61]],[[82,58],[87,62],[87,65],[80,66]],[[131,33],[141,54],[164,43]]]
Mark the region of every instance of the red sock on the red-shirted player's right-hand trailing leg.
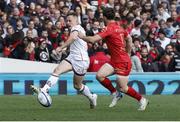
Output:
[[140,101],[142,96],[137,91],[135,91],[132,87],[128,87],[127,95],[135,98],[136,100]]

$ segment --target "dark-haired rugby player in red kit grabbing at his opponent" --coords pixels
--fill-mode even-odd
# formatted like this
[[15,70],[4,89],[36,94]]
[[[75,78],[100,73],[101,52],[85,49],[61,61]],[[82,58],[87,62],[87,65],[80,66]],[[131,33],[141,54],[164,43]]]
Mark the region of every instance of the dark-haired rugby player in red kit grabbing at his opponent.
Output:
[[[96,78],[104,87],[114,94],[112,103],[109,107],[113,107],[117,104],[117,101],[122,97],[118,91],[121,91],[138,100],[140,105],[138,110],[143,111],[148,105],[148,100],[132,87],[128,86],[129,74],[132,66],[129,56],[132,47],[132,38],[118,25],[118,23],[116,23],[114,20],[115,12],[112,8],[105,8],[103,16],[107,26],[102,32],[94,36],[84,36],[79,33],[79,37],[87,42],[95,43],[102,39],[106,40],[111,55],[111,61],[110,63],[104,64],[99,69]],[[113,74],[116,74],[117,89],[119,88],[119,90],[116,90],[111,81],[107,78]]]

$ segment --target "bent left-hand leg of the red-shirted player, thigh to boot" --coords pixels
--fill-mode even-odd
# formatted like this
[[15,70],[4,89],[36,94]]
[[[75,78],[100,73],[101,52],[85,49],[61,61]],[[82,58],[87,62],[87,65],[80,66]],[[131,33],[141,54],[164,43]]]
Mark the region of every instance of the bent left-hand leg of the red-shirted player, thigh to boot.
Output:
[[99,69],[96,75],[96,79],[112,94],[112,102],[110,103],[109,107],[114,107],[122,98],[122,93],[117,91],[112,85],[112,82],[107,78],[113,73],[114,68],[110,64],[106,63]]

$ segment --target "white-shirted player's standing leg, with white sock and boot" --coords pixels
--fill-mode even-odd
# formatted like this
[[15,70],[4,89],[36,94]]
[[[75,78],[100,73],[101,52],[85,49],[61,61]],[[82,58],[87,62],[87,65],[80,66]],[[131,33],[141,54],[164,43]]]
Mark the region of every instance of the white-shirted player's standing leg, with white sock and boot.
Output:
[[97,106],[97,95],[92,94],[88,86],[82,84],[83,79],[84,76],[74,74],[74,79],[73,79],[74,88],[79,90],[84,96],[86,96],[89,99],[90,108],[93,109]]

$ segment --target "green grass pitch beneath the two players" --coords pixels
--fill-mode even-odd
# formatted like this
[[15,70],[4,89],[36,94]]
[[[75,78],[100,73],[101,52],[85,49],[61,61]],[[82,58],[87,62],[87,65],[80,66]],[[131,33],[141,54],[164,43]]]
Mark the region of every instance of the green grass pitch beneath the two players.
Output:
[[180,95],[146,96],[146,111],[137,111],[138,103],[125,96],[114,108],[108,108],[110,96],[98,96],[96,109],[89,109],[81,96],[52,96],[49,108],[37,102],[37,96],[0,96],[0,121],[176,121],[180,120]]

